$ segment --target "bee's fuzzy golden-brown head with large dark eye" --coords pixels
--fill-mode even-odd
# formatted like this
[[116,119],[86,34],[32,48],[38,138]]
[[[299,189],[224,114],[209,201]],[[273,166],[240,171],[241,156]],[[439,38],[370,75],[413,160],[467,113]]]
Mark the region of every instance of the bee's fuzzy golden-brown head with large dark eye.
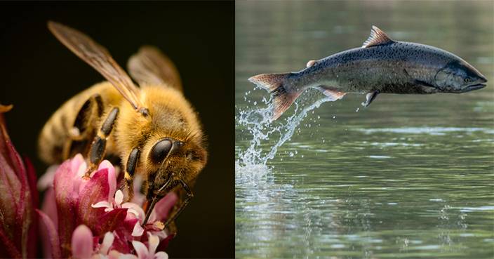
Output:
[[201,141],[160,138],[147,153],[147,197],[162,197],[181,180],[192,185],[206,164]]

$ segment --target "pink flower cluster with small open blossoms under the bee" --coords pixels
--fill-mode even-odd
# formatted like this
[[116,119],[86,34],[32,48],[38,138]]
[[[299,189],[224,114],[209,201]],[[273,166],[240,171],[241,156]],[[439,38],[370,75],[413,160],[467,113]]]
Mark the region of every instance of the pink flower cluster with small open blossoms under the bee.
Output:
[[[163,230],[163,220],[175,204],[176,194],[161,199],[151,220],[142,226],[145,216],[142,204],[134,203],[142,201],[142,194],[136,193],[133,202],[124,203],[122,192],[116,190],[118,172],[109,161],[102,161],[89,179],[83,178],[86,168],[84,158],[78,154],[52,173],[53,187],[46,192],[43,212],[39,211],[46,229],[45,256],[112,258],[137,254],[142,258],[142,246],[145,246],[146,258],[154,258],[156,248],[159,251],[166,248],[173,237]],[[49,181],[42,179],[40,185],[43,182]],[[165,255],[159,252],[156,258]]]

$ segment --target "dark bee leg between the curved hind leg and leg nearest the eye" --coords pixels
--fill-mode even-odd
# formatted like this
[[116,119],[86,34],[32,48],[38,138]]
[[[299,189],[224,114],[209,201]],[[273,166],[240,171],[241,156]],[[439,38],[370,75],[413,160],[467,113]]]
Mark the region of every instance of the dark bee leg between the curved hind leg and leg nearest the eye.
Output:
[[95,136],[93,143],[91,143],[91,149],[89,150],[89,166],[86,175],[84,175],[85,178],[89,178],[91,171],[98,168],[98,164],[100,164],[103,157],[105,157],[107,138],[109,133],[112,132],[118,114],[119,108],[114,107],[101,125],[100,131],[98,131],[98,135]]

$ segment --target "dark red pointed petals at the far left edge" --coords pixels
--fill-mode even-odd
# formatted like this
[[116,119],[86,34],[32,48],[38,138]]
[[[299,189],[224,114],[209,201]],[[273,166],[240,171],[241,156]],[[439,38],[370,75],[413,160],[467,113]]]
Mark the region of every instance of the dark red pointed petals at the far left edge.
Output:
[[8,136],[0,105],[0,257],[32,258],[36,253],[38,206],[36,173],[29,160],[22,161]]

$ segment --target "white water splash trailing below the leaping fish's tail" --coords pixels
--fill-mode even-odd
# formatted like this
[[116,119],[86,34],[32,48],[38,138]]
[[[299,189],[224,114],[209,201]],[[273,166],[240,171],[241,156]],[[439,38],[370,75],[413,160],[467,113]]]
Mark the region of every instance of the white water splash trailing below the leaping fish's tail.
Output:
[[[274,159],[278,148],[290,140],[295,129],[307,116],[307,113],[330,101],[321,97],[321,93],[307,91],[294,103],[295,112],[286,119],[272,121],[272,99],[263,100],[265,108],[241,110],[236,116],[236,128],[251,135],[252,139],[246,150],[239,150],[235,163],[237,173],[246,172],[254,178],[260,178],[270,171],[267,161]],[[273,141],[275,140],[275,141]]]

